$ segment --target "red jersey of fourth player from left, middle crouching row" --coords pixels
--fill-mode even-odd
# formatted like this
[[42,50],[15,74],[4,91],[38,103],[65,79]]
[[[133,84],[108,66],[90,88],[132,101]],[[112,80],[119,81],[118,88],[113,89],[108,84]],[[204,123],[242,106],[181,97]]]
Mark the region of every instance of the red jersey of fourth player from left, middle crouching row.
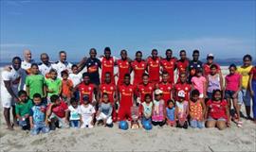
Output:
[[143,83],[137,85],[137,96],[140,97],[141,102],[144,102],[147,93],[151,94],[151,98],[153,97],[154,88],[152,83],[148,83],[147,85],[144,85]]

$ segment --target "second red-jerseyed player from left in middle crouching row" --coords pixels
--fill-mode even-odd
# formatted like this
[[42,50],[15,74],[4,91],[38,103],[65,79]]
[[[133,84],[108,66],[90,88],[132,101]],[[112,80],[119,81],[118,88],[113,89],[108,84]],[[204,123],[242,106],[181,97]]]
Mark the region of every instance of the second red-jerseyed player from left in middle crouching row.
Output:
[[[100,85],[100,92],[98,92],[98,98],[101,99],[103,93],[107,93],[109,97],[109,101],[112,104],[113,110],[112,110],[112,119],[114,122],[117,121],[117,112],[115,103],[118,101],[118,93],[117,93],[117,87],[115,84],[111,83],[111,74],[109,72],[105,73],[105,80],[104,83]],[[101,100],[100,100],[101,103]]]

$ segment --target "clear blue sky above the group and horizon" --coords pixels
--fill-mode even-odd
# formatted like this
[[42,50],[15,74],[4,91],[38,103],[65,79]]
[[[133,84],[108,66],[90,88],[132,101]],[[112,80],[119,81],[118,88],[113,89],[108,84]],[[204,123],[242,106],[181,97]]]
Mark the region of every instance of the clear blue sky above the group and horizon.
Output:
[[103,53],[109,46],[114,56],[126,49],[134,59],[156,48],[164,56],[185,49],[213,53],[215,59],[256,58],[255,0],[0,0],[1,61],[21,56],[30,49],[39,61],[46,52],[58,60],[58,52],[79,61],[90,48]]

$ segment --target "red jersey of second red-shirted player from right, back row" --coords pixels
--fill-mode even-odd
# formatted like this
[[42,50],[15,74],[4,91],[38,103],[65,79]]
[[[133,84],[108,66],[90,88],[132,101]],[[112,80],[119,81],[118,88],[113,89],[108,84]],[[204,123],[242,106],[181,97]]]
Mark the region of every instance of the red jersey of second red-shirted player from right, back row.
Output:
[[176,59],[172,58],[170,60],[162,59],[161,66],[163,71],[167,71],[169,74],[169,82],[174,83],[174,70],[175,70]]

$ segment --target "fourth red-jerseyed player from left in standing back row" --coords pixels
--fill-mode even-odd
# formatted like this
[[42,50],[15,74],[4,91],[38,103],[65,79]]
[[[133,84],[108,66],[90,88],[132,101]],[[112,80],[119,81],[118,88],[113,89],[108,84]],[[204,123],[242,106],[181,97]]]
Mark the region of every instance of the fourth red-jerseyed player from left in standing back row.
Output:
[[147,59],[150,81],[154,84],[158,83],[160,80],[160,58],[157,54],[157,50],[153,49],[151,52],[152,57]]

